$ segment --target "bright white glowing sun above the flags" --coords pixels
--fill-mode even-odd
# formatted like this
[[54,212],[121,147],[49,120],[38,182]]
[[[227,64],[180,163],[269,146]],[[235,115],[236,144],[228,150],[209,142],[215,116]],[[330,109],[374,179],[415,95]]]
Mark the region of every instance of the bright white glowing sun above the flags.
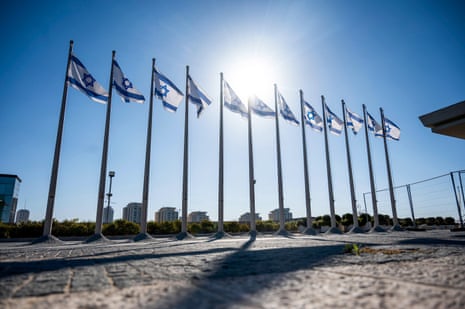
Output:
[[264,57],[236,61],[228,75],[225,76],[244,103],[251,95],[261,98],[272,96],[274,78],[272,62]]

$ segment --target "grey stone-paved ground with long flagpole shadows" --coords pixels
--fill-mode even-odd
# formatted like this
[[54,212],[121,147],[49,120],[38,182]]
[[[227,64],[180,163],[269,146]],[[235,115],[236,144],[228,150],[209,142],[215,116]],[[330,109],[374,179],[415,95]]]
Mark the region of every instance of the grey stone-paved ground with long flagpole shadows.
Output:
[[465,233],[0,243],[0,308],[342,307],[465,308]]

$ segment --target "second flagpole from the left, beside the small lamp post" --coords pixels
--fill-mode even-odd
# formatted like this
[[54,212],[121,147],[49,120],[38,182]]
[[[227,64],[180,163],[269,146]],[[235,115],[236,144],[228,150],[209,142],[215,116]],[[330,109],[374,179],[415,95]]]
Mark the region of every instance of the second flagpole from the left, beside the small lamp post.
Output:
[[102,221],[103,221],[103,203],[105,200],[105,181],[107,176],[107,161],[108,161],[108,139],[110,136],[110,115],[111,115],[111,96],[113,92],[113,61],[115,60],[115,51],[112,51],[111,55],[111,70],[110,70],[110,82],[108,86],[108,102],[107,102],[107,114],[105,119],[105,134],[103,137],[103,149],[102,149],[102,162],[100,166],[100,183],[97,200],[97,217],[95,220],[95,234],[91,236],[86,242],[93,242],[96,240],[108,240],[102,235]]

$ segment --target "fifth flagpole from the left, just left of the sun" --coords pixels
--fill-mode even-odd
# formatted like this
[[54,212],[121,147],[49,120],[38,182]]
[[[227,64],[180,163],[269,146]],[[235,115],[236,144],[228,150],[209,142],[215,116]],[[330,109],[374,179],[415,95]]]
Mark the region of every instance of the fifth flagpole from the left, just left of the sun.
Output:
[[220,127],[219,127],[219,150],[218,150],[218,231],[215,238],[223,238],[223,215],[224,215],[224,151],[223,151],[223,72],[220,73]]

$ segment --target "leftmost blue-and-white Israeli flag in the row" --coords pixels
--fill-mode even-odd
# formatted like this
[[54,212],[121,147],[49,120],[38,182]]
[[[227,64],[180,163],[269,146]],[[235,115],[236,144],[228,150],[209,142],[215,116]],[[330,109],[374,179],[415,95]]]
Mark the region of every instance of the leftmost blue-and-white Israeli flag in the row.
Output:
[[81,91],[92,101],[103,104],[108,102],[108,92],[95,80],[82,62],[74,55],[71,55],[71,62],[67,75],[68,85]]

